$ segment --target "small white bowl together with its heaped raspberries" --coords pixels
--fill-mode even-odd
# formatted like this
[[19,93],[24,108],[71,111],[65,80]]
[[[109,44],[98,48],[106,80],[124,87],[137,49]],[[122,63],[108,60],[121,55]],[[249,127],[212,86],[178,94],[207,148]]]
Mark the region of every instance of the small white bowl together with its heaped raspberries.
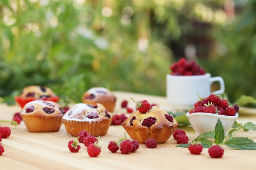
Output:
[[232,125],[238,118],[239,106],[230,105],[222,95],[210,94],[195,102],[193,108],[186,113],[186,117],[196,135],[213,131],[218,119],[222,122],[225,135],[229,132]]

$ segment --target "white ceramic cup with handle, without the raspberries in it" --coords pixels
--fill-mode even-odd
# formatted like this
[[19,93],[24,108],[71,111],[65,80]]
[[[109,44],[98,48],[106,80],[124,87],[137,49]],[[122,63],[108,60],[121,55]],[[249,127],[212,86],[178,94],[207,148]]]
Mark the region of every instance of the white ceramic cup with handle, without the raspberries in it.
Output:
[[[213,82],[220,82],[220,89],[211,92]],[[199,100],[198,94],[200,97],[207,97],[211,93],[218,95],[224,91],[225,84],[222,77],[211,77],[209,73],[191,76],[166,75],[166,96],[175,110],[192,108]]]

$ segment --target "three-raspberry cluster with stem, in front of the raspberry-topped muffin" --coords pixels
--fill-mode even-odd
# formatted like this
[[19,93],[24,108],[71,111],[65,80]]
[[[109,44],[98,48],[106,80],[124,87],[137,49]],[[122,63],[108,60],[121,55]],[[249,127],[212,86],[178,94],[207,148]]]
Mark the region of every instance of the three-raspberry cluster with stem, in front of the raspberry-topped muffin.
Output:
[[137,140],[129,140],[126,135],[120,139],[118,142],[110,141],[108,144],[108,150],[115,153],[120,149],[122,154],[129,154],[130,152],[135,152],[139,149],[139,142]]

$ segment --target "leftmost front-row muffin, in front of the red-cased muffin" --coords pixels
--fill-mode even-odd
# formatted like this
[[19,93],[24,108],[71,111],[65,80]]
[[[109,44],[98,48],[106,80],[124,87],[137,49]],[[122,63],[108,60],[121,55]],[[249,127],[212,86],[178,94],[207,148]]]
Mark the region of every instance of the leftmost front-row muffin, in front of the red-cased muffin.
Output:
[[55,102],[34,100],[22,108],[20,115],[29,132],[58,132],[63,110]]

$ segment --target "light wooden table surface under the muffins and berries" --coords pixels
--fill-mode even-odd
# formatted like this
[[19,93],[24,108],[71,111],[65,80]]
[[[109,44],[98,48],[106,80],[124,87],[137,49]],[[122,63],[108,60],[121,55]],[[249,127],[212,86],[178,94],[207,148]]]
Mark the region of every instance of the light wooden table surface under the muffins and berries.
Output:
[[[172,110],[165,97],[142,95],[136,93],[114,92],[117,96],[115,108],[116,114],[126,113],[120,107],[121,101],[126,99],[129,106],[135,108],[135,104],[129,100],[147,99],[150,103],[156,103],[160,108]],[[10,120],[15,112],[19,112],[19,106],[7,106],[0,104],[0,120]],[[128,114],[127,114],[128,115]],[[240,115],[238,122],[251,121],[256,124],[256,114]],[[123,137],[124,128],[110,126],[108,134],[100,137],[99,145],[102,146],[101,154],[97,158],[89,157],[85,146],[81,145],[78,153],[71,153],[67,148],[69,137],[64,125],[59,132],[31,133],[28,132],[24,122],[15,129],[7,123],[0,126],[11,127],[11,136],[2,139],[5,152],[0,156],[0,170],[220,170],[220,169],[246,169],[256,168],[256,150],[234,150],[227,147],[222,158],[213,159],[208,155],[208,149],[203,149],[200,155],[190,154],[187,148],[178,148],[176,141],[171,138],[160,144],[155,149],[148,149],[140,144],[139,149],[128,155],[122,155],[120,151],[111,153],[108,150],[110,141]],[[191,127],[183,128],[190,141],[195,139],[195,132]],[[249,137],[256,141],[256,132],[249,130],[237,133],[237,137]]]

